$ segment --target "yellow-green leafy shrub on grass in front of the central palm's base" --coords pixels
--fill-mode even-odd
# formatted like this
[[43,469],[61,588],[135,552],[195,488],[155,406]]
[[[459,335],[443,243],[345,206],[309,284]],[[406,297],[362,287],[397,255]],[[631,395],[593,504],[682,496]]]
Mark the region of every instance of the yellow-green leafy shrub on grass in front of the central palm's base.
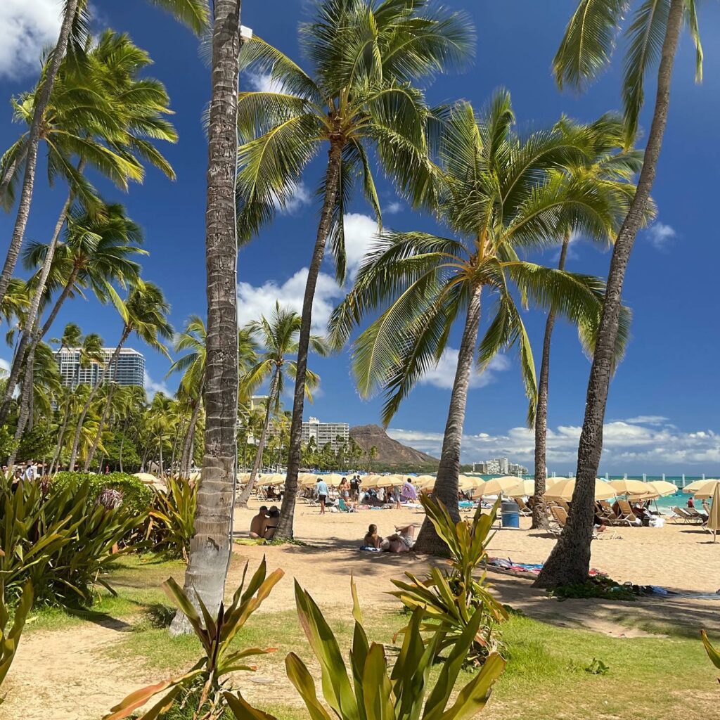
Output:
[[[467,654],[467,665],[480,665],[500,647],[499,624],[508,613],[490,593],[486,576],[474,577],[477,567],[487,558],[486,547],[490,530],[498,511],[498,504],[489,515],[482,515],[480,507],[472,522],[454,523],[442,503],[420,496],[427,516],[441,539],[449,548],[451,559],[447,570],[433,567],[420,579],[406,572],[410,582],[392,580],[397,590],[390,593],[400,599],[409,611],[420,608],[423,613],[421,630],[435,637],[444,637],[437,644],[437,652],[453,647],[458,636],[464,633],[471,618],[480,616],[480,624]],[[408,626],[410,627],[410,626]],[[408,628],[400,633],[408,631]],[[429,641],[428,641],[429,642]]]

